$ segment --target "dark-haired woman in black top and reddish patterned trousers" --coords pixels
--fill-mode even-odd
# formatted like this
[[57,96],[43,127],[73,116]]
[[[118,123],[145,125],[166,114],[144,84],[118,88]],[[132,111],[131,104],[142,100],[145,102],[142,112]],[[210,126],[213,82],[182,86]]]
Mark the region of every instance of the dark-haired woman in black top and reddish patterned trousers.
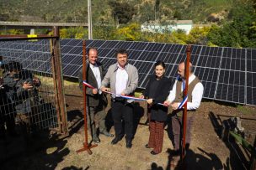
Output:
[[161,105],[168,97],[171,88],[171,80],[164,76],[165,64],[157,61],[155,73],[150,77],[146,90],[141,98],[147,99],[149,113],[150,135],[145,147],[152,148],[152,155],[162,152],[163,147],[163,127],[167,120],[168,107]]

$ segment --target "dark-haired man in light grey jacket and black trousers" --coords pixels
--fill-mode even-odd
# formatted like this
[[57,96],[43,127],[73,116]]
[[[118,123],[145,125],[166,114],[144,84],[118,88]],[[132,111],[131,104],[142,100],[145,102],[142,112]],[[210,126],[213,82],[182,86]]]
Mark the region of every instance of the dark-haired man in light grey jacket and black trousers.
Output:
[[[128,63],[128,52],[118,49],[115,53],[117,62],[109,66],[107,74],[102,80],[101,90],[111,91],[111,109],[115,127],[115,138],[111,144],[115,145],[124,137],[126,147],[131,148],[133,139],[133,101],[126,100],[120,95],[134,95],[138,85],[139,75],[135,66]],[[110,87],[110,88],[108,88]],[[125,122],[125,131],[123,131]]]

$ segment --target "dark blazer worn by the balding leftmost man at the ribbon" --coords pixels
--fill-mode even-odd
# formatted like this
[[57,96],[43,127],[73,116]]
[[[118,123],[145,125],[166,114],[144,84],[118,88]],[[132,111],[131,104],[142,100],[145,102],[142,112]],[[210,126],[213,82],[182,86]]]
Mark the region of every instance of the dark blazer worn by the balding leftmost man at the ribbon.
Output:
[[[97,62],[99,65],[99,72],[101,80],[103,79],[103,66],[101,63]],[[93,87],[99,89],[97,80],[93,74],[93,70],[91,70],[90,65],[87,64],[87,71],[86,71],[86,81],[88,84],[92,85]],[[79,81],[79,87],[81,90],[83,90],[83,68],[78,73],[78,81]],[[96,94],[93,95],[93,90],[90,88],[86,88],[86,96],[87,96],[87,105],[88,106],[99,106],[99,103],[103,104],[104,106],[107,105],[107,98],[106,95],[103,93],[101,95]]]

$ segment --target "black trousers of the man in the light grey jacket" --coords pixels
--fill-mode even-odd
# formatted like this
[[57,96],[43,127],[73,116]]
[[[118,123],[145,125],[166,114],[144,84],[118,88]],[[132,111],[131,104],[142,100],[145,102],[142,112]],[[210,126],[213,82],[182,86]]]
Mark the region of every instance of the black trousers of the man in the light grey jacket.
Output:
[[115,127],[115,137],[121,139],[124,136],[122,122],[125,121],[125,139],[131,141],[133,137],[133,106],[125,101],[111,102],[112,118]]

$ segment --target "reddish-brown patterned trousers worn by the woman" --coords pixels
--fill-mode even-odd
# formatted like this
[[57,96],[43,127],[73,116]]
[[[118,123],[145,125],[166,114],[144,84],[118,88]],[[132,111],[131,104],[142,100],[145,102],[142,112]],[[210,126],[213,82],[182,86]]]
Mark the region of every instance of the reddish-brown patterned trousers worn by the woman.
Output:
[[162,152],[163,148],[163,122],[149,121],[148,147],[152,147],[156,153]]

